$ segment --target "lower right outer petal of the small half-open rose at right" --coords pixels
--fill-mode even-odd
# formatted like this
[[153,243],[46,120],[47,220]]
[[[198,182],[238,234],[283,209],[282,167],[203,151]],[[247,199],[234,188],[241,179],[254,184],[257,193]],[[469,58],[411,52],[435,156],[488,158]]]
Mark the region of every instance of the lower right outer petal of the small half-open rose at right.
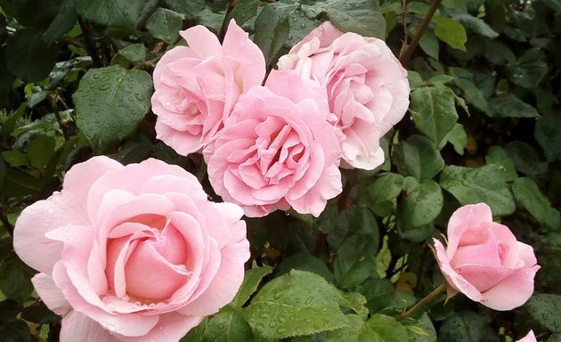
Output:
[[483,293],[481,304],[493,310],[512,310],[524,303],[533,294],[533,278],[540,269],[539,265],[519,268]]

